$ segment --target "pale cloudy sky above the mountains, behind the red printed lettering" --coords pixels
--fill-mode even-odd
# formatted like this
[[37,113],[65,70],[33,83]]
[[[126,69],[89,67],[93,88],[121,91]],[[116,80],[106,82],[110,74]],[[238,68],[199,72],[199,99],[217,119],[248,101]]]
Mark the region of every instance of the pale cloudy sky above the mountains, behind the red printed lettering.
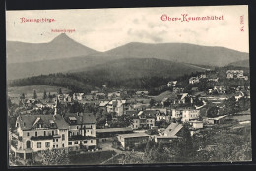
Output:
[[[182,14],[187,14],[187,18],[223,16],[224,20],[161,20],[162,15],[183,18]],[[21,18],[49,18],[55,22],[22,23]],[[248,6],[244,5],[6,12],[6,39],[9,41],[49,42],[60,34],[52,29],[75,29],[66,34],[102,52],[129,42],[191,43],[249,52]]]

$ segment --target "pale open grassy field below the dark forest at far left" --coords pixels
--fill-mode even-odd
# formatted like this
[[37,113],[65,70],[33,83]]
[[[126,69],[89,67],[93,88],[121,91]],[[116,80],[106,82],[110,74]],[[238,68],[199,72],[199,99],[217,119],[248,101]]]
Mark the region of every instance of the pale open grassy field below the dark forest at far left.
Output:
[[33,90],[36,90],[38,98],[41,98],[44,90],[51,94],[57,93],[58,89],[61,88],[63,93],[69,93],[70,90],[63,87],[58,86],[48,86],[48,85],[31,85],[31,86],[16,86],[16,87],[8,87],[7,92],[10,97],[19,97],[22,93],[26,95],[27,98],[33,96]]

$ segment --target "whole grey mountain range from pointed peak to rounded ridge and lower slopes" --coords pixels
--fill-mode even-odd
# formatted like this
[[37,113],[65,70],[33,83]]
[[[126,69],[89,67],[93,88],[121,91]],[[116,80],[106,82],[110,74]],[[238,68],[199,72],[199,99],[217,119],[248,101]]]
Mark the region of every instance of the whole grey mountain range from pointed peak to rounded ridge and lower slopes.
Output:
[[59,72],[101,73],[105,77],[107,73],[125,78],[167,73],[174,77],[229,64],[246,67],[246,61],[248,53],[186,43],[132,42],[98,52],[66,34],[48,43],[7,41],[8,80]]

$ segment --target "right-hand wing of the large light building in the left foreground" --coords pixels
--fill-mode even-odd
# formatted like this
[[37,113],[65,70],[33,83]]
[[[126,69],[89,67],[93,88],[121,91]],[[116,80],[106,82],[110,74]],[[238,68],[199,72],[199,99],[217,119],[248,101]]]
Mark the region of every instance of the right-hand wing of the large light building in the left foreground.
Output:
[[67,113],[69,125],[68,146],[70,149],[96,148],[96,118],[92,113]]

